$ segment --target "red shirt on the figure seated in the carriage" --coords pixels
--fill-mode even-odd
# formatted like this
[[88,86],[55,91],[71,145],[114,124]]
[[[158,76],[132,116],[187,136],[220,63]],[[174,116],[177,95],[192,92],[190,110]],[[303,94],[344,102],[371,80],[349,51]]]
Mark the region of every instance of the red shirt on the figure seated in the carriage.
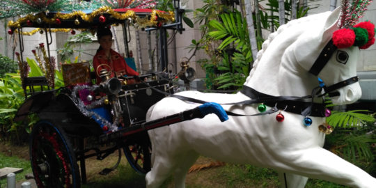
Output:
[[[134,71],[132,68],[130,68],[130,66],[127,65],[127,63],[125,63],[123,56],[120,56],[118,52],[115,52],[112,49],[110,49],[110,53],[111,53],[112,63],[107,58],[106,54],[104,53],[104,50],[97,52],[97,54],[95,54],[93,58],[93,67],[95,70],[95,75],[97,76],[97,84],[100,84],[100,82],[102,81],[102,79],[99,77],[99,75],[97,75],[97,73],[100,73],[100,70],[104,68],[109,70],[109,67],[110,67],[113,72],[116,72],[116,75],[121,74],[121,75],[127,75],[128,77],[139,75],[139,72]],[[102,65],[102,64],[105,64],[105,65]],[[99,65],[101,66],[98,68]],[[111,77],[115,76],[113,72],[111,72]]]

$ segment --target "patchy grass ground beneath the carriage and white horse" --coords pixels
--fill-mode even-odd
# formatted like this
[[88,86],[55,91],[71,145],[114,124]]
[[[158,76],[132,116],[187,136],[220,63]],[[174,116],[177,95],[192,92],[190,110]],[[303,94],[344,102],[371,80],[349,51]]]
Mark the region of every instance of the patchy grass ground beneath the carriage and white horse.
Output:
[[[13,157],[9,157],[9,150],[12,150]],[[104,168],[111,168],[118,159],[116,153],[109,155],[106,159],[98,161],[95,157],[86,159],[86,174],[88,183],[82,185],[82,188],[143,188],[146,187],[144,175],[136,173],[127,163],[124,155],[117,169],[108,175],[99,175]],[[201,156],[196,164],[208,164],[213,159]],[[29,162],[28,146],[9,146],[0,141],[0,168],[15,167],[22,168],[24,172],[16,175],[17,182],[24,182],[24,175],[31,173],[31,164]],[[169,177],[161,188],[174,187],[173,175]],[[6,179],[1,180],[1,188],[6,187]],[[251,165],[224,164],[223,166],[212,169],[203,169],[194,171],[187,175],[187,188],[227,188],[227,187],[281,187],[279,185],[278,174],[276,171],[259,168]],[[343,187],[331,182],[309,179],[307,188]],[[18,187],[17,187],[18,188]]]

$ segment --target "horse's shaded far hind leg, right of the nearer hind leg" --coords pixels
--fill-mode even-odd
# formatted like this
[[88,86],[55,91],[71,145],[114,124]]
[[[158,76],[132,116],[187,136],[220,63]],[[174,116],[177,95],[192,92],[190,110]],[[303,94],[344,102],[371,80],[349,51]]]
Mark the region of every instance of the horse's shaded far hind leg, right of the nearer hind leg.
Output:
[[189,151],[187,155],[185,155],[180,166],[175,170],[175,187],[185,188],[185,178],[187,173],[198,157],[200,157],[200,154],[194,150]]

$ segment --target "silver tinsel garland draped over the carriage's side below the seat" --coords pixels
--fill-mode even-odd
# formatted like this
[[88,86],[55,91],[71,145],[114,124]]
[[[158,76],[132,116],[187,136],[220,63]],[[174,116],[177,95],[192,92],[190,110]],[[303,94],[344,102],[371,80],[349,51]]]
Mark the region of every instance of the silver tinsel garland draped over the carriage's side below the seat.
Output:
[[103,97],[101,98],[101,100],[96,100],[94,102],[91,102],[91,104],[88,104],[88,105],[85,105],[84,102],[82,102],[82,100],[80,100],[79,97],[77,97],[77,91],[84,90],[84,89],[87,89],[88,91],[94,91],[95,88],[97,88],[97,87],[99,87],[99,86],[97,86],[97,85],[94,85],[94,86],[77,85],[72,90],[72,98],[73,98],[73,100],[77,101],[78,104],[76,104],[76,105],[77,105],[77,107],[79,108],[79,111],[81,111],[82,114],[84,114],[86,117],[89,117],[89,118],[94,116],[95,120],[99,120],[102,123],[102,125],[109,127],[110,131],[116,132],[118,130],[118,127],[116,126],[116,125],[118,125],[118,122],[119,122],[118,117],[116,117],[115,120],[113,120],[113,123],[111,124],[107,120],[102,118],[102,116],[98,115],[97,113],[95,113],[93,111],[88,111],[88,109],[93,109],[95,106],[103,104],[103,102],[104,102]]

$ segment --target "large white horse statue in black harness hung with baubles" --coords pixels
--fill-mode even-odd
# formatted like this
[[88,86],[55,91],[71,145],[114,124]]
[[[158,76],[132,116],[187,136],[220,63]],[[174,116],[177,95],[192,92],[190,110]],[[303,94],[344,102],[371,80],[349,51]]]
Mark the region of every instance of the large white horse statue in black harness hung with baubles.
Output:
[[[318,78],[308,70],[331,40],[334,31],[339,29],[339,17],[340,9],[337,8],[333,13],[311,15],[280,26],[264,42],[244,86],[272,96],[311,95],[313,88],[318,87]],[[340,50],[348,54],[345,56],[347,62],[338,62],[336,50],[318,75],[327,86],[357,75],[359,47]],[[336,91],[340,95],[332,97],[334,104],[350,104],[361,97],[359,82]],[[187,91],[178,95],[220,104],[250,100],[243,93],[226,95]],[[322,102],[322,98],[316,100]],[[147,120],[198,105],[166,97],[149,109]],[[259,113],[258,104],[222,106],[233,113]],[[281,113],[285,117],[281,123],[276,121],[276,113],[229,116],[224,123],[217,116],[208,115],[203,119],[149,130],[152,170],[146,175],[147,187],[159,187],[173,173],[175,187],[185,187],[186,174],[200,154],[221,162],[274,169],[279,172],[282,187],[304,187],[308,178],[349,187],[376,187],[375,178],[322,148],[325,134],[318,130],[318,126],[325,122],[325,118],[310,116],[313,123],[306,126],[302,122],[304,116],[288,111]]]

